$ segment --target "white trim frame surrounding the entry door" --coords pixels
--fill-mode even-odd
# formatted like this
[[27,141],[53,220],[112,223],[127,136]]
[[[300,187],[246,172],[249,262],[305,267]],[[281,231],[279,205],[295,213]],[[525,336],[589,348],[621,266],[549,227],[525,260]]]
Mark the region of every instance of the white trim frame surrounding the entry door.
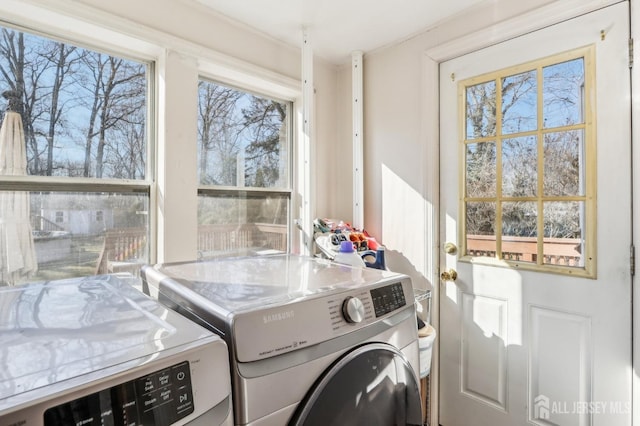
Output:
[[[440,191],[446,190],[446,188],[440,187],[440,115],[439,115],[439,85],[440,75],[439,67],[441,62],[448,61],[450,59],[465,55],[467,53],[480,50],[493,44],[501,43],[512,38],[527,34],[533,31],[541,30],[550,25],[558,24],[571,18],[583,15],[585,13],[593,12],[606,6],[610,6],[616,3],[629,2],[630,20],[631,22],[640,22],[640,5],[634,5],[634,2],[629,0],[565,0],[555,1],[540,8],[521,14],[517,17],[508,19],[507,21],[490,25],[482,30],[473,32],[466,36],[448,41],[440,44],[436,47],[429,48],[424,51],[422,57],[422,75],[423,87],[422,87],[422,114],[424,118],[422,124],[423,140],[426,141],[425,149],[425,165],[430,173],[426,175],[428,179],[426,187],[426,197],[431,201],[431,209],[427,209],[425,224],[427,232],[430,232],[432,238],[430,240],[430,247],[427,250],[427,265],[428,279],[433,284],[432,290],[432,312],[431,318],[435,329],[437,330],[437,340],[433,348],[433,360],[430,373],[430,409],[431,415],[429,418],[430,425],[438,425],[439,419],[439,331],[440,331],[440,267],[441,261],[444,260],[444,256],[441,256],[442,250],[440,248]],[[639,39],[640,28],[635,29],[630,25],[631,37]],[[636,145],[640,140],[638,134],[640,132],[635,131],[640,129],[640,70],[636,65],[632,68],[632,93],[631,93],[631,105],[632,105],[632,146]],[[630,161],[635,164],[640,164],[640,149],[632,150],[632,158]],[[632,167],[633,174],[633,204],[632,204],[632,228],[634,246],[640,243],[640,205],[636,206],[636,203],[640,202],[640,176],[636,176]],[[640,174],[639,174],[640,175]],[[635,225],[638,226],[635,226]],[[640,305],[636,305],[636,300],[640,300],[640,289],[635,286],[635,275],[632,274],[633,287],[633,313],[632,313],[632,327],[633,327],[633,354],[632,363],[634,370],[636,366],[640,366],[640,346],[636,348],[636,345],[640,345],[640,315],[635,315]],[[640,375],[640,373],[639,373]],[[640,377],[634,375],[632,381],[632,396],[633,396],[633,414],[632,418],[635,419],[640,413]],[[447,425],[444,425],[447,426]]]

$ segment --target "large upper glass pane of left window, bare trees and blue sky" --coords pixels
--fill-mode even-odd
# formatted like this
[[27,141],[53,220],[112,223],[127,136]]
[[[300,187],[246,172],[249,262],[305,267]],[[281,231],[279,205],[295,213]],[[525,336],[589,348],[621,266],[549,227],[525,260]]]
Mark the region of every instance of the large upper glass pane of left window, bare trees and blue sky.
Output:
[[0,92],[17,94],[26,173],[145,179],[148,64],[0,31]]

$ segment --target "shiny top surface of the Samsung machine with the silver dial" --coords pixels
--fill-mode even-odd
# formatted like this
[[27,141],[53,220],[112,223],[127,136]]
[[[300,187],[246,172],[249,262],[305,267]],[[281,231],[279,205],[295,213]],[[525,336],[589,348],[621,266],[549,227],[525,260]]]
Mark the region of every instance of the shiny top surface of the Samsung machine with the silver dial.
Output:
[[142,274],[154,287],[162,287],[170,280],[190,289],[214,303],[216,311],[226,311],[223,316],[406,277],[293,254],[159,264]]

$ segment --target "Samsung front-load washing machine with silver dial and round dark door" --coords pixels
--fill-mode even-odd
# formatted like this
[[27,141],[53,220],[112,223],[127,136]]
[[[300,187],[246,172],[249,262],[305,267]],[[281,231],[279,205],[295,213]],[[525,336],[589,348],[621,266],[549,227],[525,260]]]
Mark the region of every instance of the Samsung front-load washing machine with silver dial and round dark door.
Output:
[[229,346],[236,425],[421,425],[411,280],[304,256],[146,266]]

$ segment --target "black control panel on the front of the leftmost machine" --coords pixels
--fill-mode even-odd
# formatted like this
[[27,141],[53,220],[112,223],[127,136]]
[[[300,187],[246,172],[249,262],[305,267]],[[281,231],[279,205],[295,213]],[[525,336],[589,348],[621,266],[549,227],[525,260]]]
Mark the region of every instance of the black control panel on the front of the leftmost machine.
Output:
[[47,409],[44,426],[169,426],[193,413],[189,362]]

